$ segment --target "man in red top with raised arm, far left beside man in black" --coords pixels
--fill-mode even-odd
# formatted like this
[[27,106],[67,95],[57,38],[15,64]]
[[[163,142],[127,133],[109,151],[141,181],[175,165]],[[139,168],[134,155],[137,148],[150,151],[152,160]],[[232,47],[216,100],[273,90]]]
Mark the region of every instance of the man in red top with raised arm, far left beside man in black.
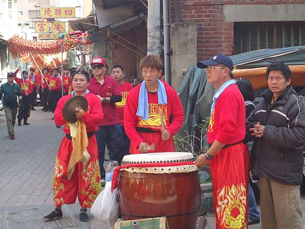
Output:
[[17,77],[17,71],[15,71],[15,81],[18,83],[22,92],[22,100],[20,101],[21,106],[18,109],[18,126],[21,126],[21,121],[23,120],[23,125],[29,125],[27,119],[29,118],[29,114],[31,112],[31,94],[33,92],[32,83],[27,81],[27,71],[22,71],[23,79],[19,79]]

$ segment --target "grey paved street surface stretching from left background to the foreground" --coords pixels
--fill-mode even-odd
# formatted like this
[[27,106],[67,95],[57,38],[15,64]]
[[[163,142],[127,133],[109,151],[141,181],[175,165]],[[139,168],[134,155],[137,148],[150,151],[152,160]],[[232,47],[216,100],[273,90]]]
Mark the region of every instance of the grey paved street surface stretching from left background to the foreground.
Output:
[[[42,217],[53,208],[53,164],[62,128],[56,128],[51,112],[41,107],[31,112],[29,126],[15,126],[15,140],[7,134],[4,111],[0,111],[0,229],[9,228],[99,228],[106,229],[92,215],[90,221],[79,221],[79,205],[65,206],[67,216],[56,223]],[[302,206],[305,206],[302,196]],[[215,215],[207,215],[207,229],[215,228]],[[19,223],[19,224],[18,224]],[[32,223],[32,224],[31,224]],[[249,226],[261,228],[260,224]],[[172,228],[171,228],[172,229]]]

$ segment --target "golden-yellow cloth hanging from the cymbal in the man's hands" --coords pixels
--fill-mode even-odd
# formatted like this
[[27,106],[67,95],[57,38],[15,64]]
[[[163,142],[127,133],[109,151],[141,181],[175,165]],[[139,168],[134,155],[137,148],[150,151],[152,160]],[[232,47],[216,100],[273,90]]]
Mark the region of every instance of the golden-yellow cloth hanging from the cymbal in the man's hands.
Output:
[[77,123],[70,123],[70,134],[72,137],[73,150],[68,164],[68,180],[71,179],[75,165],[79,161],[86,166],[87,162],[90,160],[90,155],[86,149],[89,144],[84,122],[78,120]]

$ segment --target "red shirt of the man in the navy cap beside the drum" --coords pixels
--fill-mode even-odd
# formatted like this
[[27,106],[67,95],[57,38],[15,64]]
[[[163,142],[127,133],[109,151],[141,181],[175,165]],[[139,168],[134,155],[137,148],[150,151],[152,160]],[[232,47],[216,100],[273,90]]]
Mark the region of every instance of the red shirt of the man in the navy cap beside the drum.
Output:
[[245,102],[236,84],[229,85],[219,96],[212,111],[207,141],[225,145],[235,144],[246,134]]

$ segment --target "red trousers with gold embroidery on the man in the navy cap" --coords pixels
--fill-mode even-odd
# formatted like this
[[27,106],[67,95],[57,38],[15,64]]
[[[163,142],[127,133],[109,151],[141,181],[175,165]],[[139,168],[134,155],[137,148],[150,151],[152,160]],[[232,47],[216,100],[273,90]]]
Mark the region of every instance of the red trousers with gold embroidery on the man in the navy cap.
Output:
[[209,162],[216,228],[248,228],[250,157],[242,142],[218,152]]

